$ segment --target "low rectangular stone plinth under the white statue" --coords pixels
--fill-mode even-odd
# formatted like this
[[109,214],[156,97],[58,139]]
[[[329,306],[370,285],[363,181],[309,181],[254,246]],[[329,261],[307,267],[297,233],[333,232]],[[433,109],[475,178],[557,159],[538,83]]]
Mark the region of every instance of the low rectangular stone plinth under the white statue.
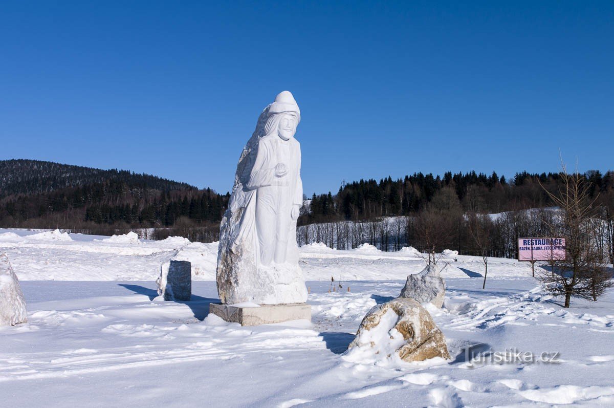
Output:
[[258,324],[299,319],[311,321],[311,305],[306,303],[261,305],[260,307],[209,304],[209,313],[231,323],[240,323],[241,326],[257,326]]

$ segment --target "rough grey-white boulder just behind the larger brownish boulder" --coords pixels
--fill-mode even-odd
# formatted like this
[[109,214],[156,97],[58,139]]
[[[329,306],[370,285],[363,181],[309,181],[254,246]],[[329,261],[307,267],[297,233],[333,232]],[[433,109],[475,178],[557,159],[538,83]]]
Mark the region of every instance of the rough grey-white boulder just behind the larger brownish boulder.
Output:
[[430,302],[443,307],[446,296],[446,281],[439,275],[437,265],[427,265],[420,273],[408,275],[399,297],[408,297],[418,302]]

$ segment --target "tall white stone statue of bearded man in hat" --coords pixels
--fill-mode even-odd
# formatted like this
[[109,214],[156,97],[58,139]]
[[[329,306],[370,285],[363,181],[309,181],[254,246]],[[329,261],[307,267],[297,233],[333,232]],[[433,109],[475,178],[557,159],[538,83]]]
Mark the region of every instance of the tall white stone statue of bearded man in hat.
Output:
[[303,205],[301,115],[292,93],[267,106],[243,149],[220,227],[217,290],[222,303],[303,303],[296,225]]

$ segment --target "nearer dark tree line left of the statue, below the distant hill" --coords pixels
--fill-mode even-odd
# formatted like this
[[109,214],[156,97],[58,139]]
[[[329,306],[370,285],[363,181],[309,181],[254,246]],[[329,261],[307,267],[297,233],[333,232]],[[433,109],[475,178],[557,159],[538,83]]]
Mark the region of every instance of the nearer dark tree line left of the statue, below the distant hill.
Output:
[[110,180],[50,193],[20,195],[0,201],[4,227],[82,228],[88,224],[118,227],[172,227],[181,218],[195,226],[222,219],[227,195],[211,189],[160,191]]

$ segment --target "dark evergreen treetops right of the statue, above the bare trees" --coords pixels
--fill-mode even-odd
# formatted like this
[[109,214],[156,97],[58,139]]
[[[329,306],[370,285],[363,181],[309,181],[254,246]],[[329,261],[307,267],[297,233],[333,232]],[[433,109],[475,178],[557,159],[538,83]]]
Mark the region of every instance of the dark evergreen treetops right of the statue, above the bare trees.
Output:
[[[588,171],[583,175],[591,185],[594,197],[614,189],[614,172],[605,174]],[[456,200],[464,211],[480,213],[502,213],[526,208],[551,206],[549,192],[556,191],[562,184],[560,173],[516,173],[511,181],[505,176],[484,173],[453,174],[446,172],[443,177],[414,173],[393,180],[391,177],[367,181],[360,180],[341,186],[336,195],[314,194],[309,200],[309,211],[305,211],[299,224],[331,222],[341,220],[367,221],[389,216],[407,216],[424,210],[442,190],[443,197]],[[542,188],[542,186],[544,188]]]

